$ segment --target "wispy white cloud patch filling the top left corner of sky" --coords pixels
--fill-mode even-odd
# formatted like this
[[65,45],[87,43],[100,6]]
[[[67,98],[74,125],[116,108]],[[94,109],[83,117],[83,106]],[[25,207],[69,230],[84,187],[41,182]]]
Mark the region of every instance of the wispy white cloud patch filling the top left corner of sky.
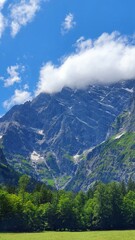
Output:
[[[41,3],[47,0],[0,0],[0,38],[6,27],[10,28],[11,36],[15,37],[20,29],[32,22],[41,8]],[[9,14],[2,13],[6,4]]]

